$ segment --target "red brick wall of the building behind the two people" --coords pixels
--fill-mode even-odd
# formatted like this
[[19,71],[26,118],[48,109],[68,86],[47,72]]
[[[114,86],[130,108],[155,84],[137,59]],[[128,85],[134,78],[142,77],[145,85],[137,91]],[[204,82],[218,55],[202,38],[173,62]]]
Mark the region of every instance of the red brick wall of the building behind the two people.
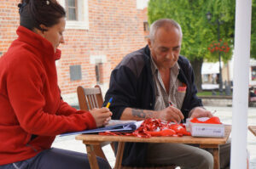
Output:
[[[4,54],[15,39],[19,25],[19,0],[0,3],[0,52]],[[64,99],[76,97],[76,87],[96,85],[94,56],[105,56],[101,65],[103,93],[108,89],[111,70],[119,61],[138,48],[144,39],[145,10],[137,9],[136,0],[88,0],[89,30],[66,29],[65,44],[61,44],[61,59],[57,61],[58,82]],[[0,53],[0,56],[2,55]],[[81,80],[71,81],[69,66],[81,66]],[[67,100],[68,101],[68,100]],[[72,101],[68,101],[72,102]]]

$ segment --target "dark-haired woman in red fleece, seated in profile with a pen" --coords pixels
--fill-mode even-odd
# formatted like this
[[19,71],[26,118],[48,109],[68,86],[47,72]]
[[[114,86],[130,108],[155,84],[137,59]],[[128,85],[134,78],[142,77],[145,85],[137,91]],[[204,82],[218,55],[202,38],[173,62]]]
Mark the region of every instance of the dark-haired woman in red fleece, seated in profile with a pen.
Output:
[[[55,135],[101,127],[107,108],[75,110],[61,99],[55,60],[65,11],[56,0],[22,0],[18,38],[0,59],[0,168],[90,168],[85,154],[50,148]],[[101,168],[108,163],[98,158]]]

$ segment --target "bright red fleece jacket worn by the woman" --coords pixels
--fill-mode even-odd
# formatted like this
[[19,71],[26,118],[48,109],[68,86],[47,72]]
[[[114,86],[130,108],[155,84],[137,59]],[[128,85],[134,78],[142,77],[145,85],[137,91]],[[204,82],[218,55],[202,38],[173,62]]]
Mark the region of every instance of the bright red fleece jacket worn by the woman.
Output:
[[0,165],[49,149],[57,134],[96,127],[89,112],[61,99],[55,68],[61,51],[25,27],[17,34],[0,58]]

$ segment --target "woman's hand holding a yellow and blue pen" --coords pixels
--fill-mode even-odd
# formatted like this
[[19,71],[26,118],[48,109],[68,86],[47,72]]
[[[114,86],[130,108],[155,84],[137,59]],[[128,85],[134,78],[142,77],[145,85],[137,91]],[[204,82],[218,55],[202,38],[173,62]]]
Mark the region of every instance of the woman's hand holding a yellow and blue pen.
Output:
[[102,127],[107,125],[108,121],[111,120],[112,112],[108,108],[103,107],[101,109],[90,110],[90,114],[96,121],[96,127]]

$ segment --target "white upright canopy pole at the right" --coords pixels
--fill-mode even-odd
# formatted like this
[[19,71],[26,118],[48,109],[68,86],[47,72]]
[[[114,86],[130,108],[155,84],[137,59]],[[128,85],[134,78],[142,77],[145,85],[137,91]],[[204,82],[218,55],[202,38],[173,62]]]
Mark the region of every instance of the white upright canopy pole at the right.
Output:
[[252,0],[236,0],[231,169],[247,168],[247,111]]

